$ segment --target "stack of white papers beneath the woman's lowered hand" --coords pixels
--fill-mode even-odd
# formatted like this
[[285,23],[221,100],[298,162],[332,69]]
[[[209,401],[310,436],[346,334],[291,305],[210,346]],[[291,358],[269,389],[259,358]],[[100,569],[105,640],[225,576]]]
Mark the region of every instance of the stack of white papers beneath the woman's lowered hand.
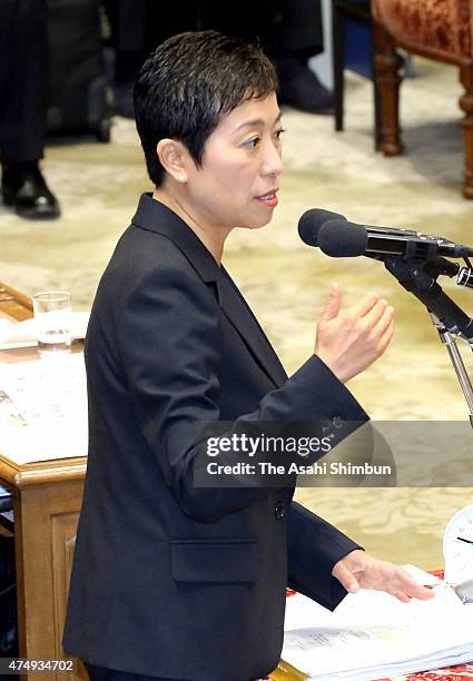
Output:
[[[432,576],[424,574],[426,584]],[[433,589],[434,599],[407,604],[361,590],[334,612],[290,596],[282,658],[317,681],[369,681],[470,662],[473,605],[443,583]]]

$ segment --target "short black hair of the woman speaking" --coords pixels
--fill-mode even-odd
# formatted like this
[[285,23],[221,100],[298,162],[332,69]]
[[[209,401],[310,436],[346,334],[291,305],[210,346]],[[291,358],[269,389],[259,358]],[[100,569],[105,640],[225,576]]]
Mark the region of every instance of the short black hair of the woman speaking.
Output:
[[159,186],[165,170],[160,139],[181,141],[197,166],[223,116],[248,99],[277,91],[276,69],[258,46],[217,31],[179,33],[148,57],[135,85],[135,116],[148,174]]

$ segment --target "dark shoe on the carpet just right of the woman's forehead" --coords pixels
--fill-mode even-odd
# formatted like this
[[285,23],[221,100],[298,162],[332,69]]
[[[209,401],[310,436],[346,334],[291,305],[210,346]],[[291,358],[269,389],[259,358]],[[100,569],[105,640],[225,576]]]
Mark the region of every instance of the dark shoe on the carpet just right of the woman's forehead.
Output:
[[296,57],[282,59],[277,63],[279,76],[279,101],[308,114],[332,112],[333,95],[305,60]]

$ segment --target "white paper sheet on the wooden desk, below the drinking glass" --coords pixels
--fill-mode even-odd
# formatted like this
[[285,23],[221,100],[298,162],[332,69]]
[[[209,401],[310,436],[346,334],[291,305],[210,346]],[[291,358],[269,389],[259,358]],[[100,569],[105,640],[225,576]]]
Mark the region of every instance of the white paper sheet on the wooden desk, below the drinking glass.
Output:
[[0,364],[0,453],[18,464],[87,454],[81,353]]

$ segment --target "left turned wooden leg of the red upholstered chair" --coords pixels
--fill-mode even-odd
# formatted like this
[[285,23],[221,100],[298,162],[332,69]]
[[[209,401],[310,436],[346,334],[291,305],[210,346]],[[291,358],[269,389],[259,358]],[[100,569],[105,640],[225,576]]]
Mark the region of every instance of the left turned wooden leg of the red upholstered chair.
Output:
[[400,86],[398,73],[404,60],[395,50],[390,33],[377,22],[373,22],[374,37],[374,78],[377,89],[381,130],[380,150],[385,156],[400,156],[404,147],[400,131]]

